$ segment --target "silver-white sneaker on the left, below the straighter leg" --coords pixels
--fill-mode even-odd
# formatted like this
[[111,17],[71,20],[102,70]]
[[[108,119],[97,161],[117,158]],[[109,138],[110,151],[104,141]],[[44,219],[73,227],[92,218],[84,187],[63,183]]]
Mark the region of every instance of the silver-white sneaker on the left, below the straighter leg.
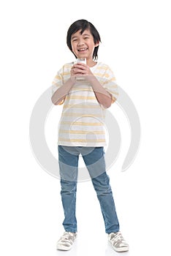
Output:
[[72,245],[77,237],[77,233],[64,232],[63,236],[57,241],[56,249],[68,251],[72,249]]

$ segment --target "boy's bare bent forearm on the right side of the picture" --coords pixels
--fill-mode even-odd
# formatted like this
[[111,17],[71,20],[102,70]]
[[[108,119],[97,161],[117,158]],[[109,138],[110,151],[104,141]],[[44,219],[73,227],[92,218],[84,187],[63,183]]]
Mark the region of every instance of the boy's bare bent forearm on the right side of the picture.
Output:
[[103,88],[95,76],[91,78],[91,86],[99,104],[103,105],[104,108],[110,108],[113,102],[112,96]]

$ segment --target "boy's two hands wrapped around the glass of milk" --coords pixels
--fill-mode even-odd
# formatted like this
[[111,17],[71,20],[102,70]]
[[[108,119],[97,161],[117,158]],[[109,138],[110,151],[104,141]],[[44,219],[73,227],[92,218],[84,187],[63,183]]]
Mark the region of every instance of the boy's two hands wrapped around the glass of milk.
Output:
[[72,66],[71,77],[76,78],[79,76],[84,76],[86,80],[91,80],[91,78],[94,77],[94,74],[91,72],[91,69],[88,67],[88,65],[77,63]]

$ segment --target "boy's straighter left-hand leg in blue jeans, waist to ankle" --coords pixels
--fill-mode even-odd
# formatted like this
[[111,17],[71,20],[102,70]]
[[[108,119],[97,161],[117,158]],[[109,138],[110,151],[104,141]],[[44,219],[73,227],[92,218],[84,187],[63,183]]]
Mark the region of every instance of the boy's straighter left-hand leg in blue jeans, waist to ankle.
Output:
[[61,200],[64,208],[64,229],[67,232],[77,232],[75,217],[77,192],[78,155],[74,147],[58,146],[58,162],[61,176]]

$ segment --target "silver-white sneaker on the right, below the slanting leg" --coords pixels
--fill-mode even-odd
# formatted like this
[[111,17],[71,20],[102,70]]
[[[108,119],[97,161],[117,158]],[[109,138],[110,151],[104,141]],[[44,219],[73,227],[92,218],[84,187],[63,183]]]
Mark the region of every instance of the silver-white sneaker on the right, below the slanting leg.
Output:
[[121,232],[110,233],[108,239],[116,252],[126,252],[129,251],[129,244],[123,239]]

